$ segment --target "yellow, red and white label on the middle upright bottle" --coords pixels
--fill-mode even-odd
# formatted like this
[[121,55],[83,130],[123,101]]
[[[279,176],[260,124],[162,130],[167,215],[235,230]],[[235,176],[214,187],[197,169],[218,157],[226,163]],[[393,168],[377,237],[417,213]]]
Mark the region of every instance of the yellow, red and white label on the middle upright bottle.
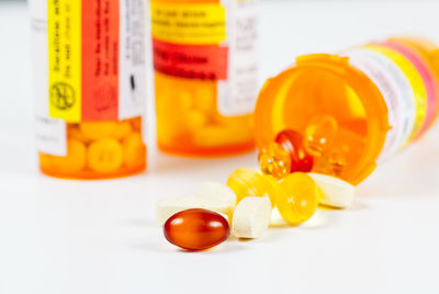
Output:
[[258,94],[257,1],[151,2],[154,68],[176,78],[217,82],[224,116],[252,112]]

